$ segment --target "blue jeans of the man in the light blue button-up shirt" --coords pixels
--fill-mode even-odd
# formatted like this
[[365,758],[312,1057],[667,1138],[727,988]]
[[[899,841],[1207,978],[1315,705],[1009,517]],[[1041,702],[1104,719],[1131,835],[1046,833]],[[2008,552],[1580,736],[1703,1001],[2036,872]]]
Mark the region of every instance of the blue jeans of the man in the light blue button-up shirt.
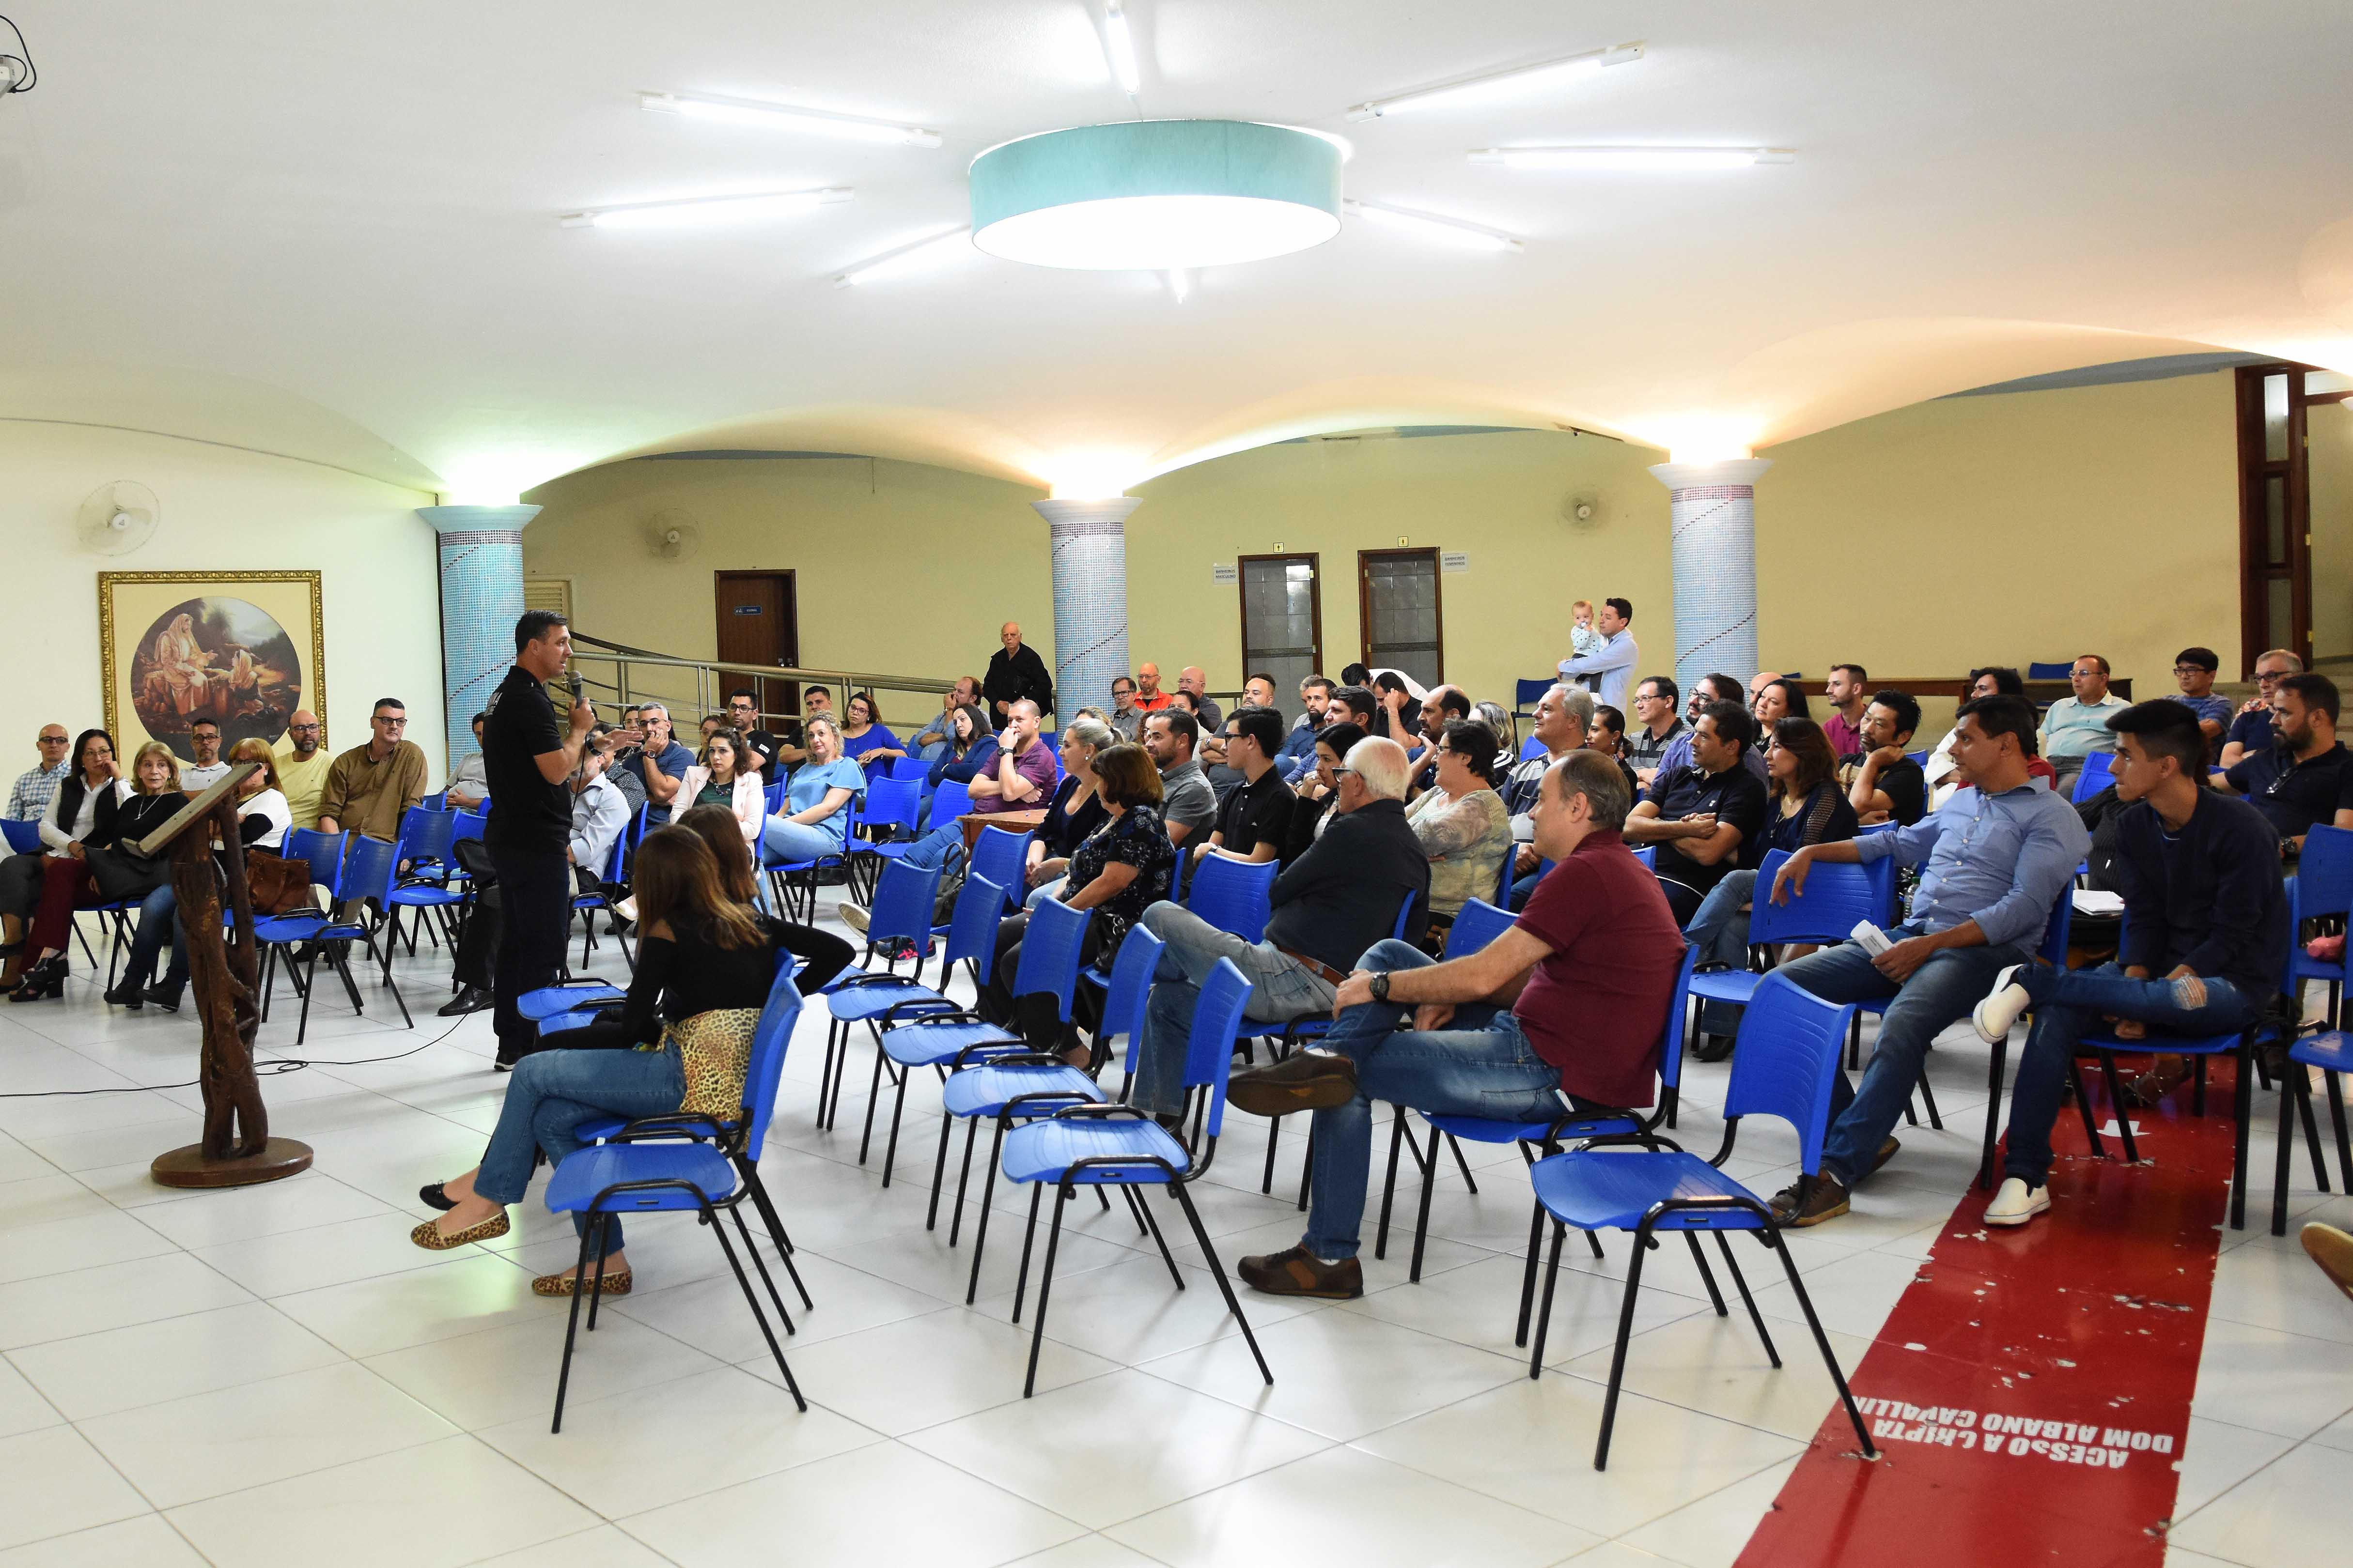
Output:
[[[1889,940],[1922,936],[1920,926],[1894,926]],[[1774,973],[1784,973],[1824,1001],[1873,1001],[1894,997],[1880,1016],[1880,1044],[1864,1067],[1864,1086],[1857,1091],[1840,1072],[1831,1081],[1831,1135],[1821,1145],[1821,1166],[1854,1187],[1871,1173],[1880,1143],[1894,1131],[1904,1105],[1911,1100],[1920,1067],[1927,1063],[1927,1046],[1939,1032],[1969,1016],[1988,990],[1993,976],[2012,964],[2026,961],[2026,950],[2017,943],[1995,947],[1946,947],[1911,973],[1901,987],[1871,966],[1871,954],[1854,943],[1824,947],[1802,959],[1791,959]]]

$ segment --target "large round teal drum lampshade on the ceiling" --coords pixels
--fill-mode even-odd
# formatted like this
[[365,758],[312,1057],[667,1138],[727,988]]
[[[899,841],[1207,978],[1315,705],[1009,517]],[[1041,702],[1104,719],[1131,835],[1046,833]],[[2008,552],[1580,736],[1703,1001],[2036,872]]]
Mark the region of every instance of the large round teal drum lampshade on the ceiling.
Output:
[[1339,146],[1249,120],[1042,132],[972,160],[972,242],[1035,266],[1167,270],[1339,233]]

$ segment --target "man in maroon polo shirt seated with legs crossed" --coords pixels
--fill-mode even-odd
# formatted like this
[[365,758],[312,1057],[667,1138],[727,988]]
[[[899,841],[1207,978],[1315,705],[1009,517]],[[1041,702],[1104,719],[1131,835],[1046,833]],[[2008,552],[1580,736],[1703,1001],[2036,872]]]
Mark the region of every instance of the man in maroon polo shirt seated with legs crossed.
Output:
[[1504,936],[1445,964],[1409,943],[1374,943],[1315,1048],[1233,1074],[1240,1110],[1315,1112],[1306,1237],[1287,1253],[1242,1258],[1252,1288],[1365,1293],[1355,1248],[1374,1100],[1518,1121],[1652,1103],[1685,943],[1659,879],[1619,837],[1631,806],[1614,759],[1567,752],[1532,813],[1537,851],[1558,865]]

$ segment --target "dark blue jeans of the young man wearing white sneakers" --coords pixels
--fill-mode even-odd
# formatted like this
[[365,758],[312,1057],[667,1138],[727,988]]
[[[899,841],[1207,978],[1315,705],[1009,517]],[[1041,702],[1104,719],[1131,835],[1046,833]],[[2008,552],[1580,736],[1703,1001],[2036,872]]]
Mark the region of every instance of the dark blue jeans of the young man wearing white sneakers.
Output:
[[[2205,1004],[2184,1006],[2179,980],[2134,980],[2120,964],[2097,969],[2019,971],[2019,985],[2035,999],[2035,1023],[2019,1053],[2019,1081],[2009,1093],[2009,1152],[2002,1175],[2040,1187],[2052,1168],[2052,1121],[2066,1084],[2075,1041],[2106,1018],[2137,1018],[2151,1027],[2148,1048],[2162,1051],[2158,1034],[2238,1034],[2254,1023],[2257,1004],[2228,980],[2202,976]],[[2122,1114],[2122,1112],[2118,1112]]]

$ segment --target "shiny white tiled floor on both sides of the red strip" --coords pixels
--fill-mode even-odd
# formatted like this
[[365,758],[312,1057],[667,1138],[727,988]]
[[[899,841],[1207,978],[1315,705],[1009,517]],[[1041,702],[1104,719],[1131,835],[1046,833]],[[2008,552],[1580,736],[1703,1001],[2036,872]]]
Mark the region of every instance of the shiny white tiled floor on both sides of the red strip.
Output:
[[[1605,1260],[1567,1248],[1548,1371],[1529,1382],[1511,1345],[1527,1182],[1508,1150],[1471,1150],[1478,1197],[1442,1175],[1421,1284],[1405,1284],[1407,1239],[1386,1262],[1367,1255],[1360,1302],[1245,1293],[1271,1389],[1198,1246],[1176,1248],[1176,1293],[1122,1208],[1073,1206],[1038,1399],[1021,1401],[1031,1319],[1009,1314],[1026,1194],[995,1194],[965,1307],[969,1227],[953,1251],[946,1222],[922,1227],[932,1091],[908,1098],[885,1192],[856,1164],[864,1046],[845,1131],[812,1126],[812,1009],[762,1161],[816,1298],[786,1342],[809,1413],[776,1387],[711,1237],[647,1220],[631,1246],[640,1293],[584,1340],[551,1436],[562,1307],[529,1276],[569,1262],[569,1227],[534,1197],[489,1248],[409,1246],[428,1213],[416,1187],[475,1161],[504,1079],[487,1016],[454,1030],[428,1016],[447,994],[440,954],[395,973],[421,1027],[327,1004],[308,1041],[322,1065],[266,1081],[273,1131],[308,1140],[318,1164],[245,1192],[146,1178],[198,1131],[195,1091],[172,1088],[195,1060],[188,1018],[111,1011],[87,978],[64,1001],[0,1006],[0,1095],[127,1091],[0,1098],[0,1566],[1715,1568],[1831,1401],[1809,1356],[1769,1373],[1746,1324],[1715,1319],[1666,1251],[1595,1474],[1624,1244]],[[388,1011],[372,985],[367,999]],[[273,1020],[261,1039],[285,1051],[292,1027]],[[393,1051],[414,1053],[325,1065]],[[1953,1131],[1904,1131],[1904,1157],[1852,1218],[1793,1239],[1849,1368],[1974,1168],[1981,1074],[1962,1030],[1934,1058]],[[1682,1135],[1711,1152],[1722,1070],[1689,1079]],[[2259,1227],[2273,1105],[2257,1095]],[[1198,1187],[1228,1265],[1297,1239],[1299,1131],[1282,1138],[1280,1197],[1261,1197],[1264,1124],[1228,1119]],[[1772,1190],[1793,1159],[1786,1133],[1744,1128],[1732,1168]],[[2308,1180],[2299,1161],[2299,1218],[2353,1218]],[[2294,1237],[2226,1232],[2224,1248],[2172,1561],[2327,1561],[2334,1509],[2315,1500],[2353,1490],[2353,1307]],[[1758,1298],[1793,1312],[1786,1286]]]

